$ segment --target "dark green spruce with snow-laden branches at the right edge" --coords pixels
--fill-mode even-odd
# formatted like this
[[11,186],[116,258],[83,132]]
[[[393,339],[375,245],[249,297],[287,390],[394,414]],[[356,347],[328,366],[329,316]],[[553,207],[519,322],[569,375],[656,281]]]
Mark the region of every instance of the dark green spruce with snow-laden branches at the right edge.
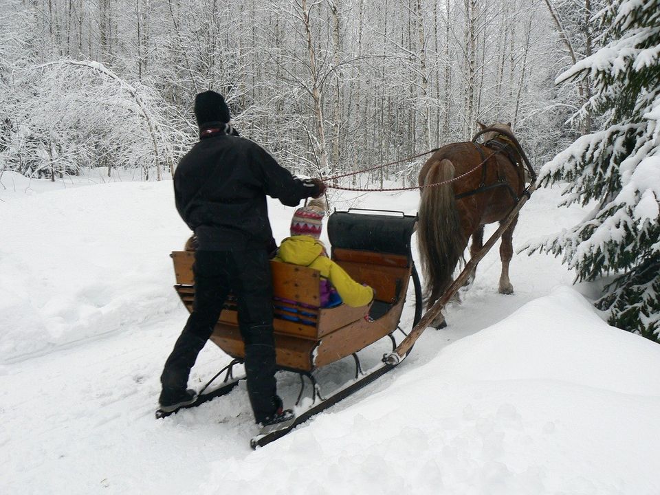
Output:
[[545,164],[542,185],[567,181],[564,206],[597,206],[570,230],[530,246],[563,255],[576,281],[605,278],[609,322],[660,340],[660,0],[614,0],[599,12],[603,47],[557,78],[591,78],[597,131]]

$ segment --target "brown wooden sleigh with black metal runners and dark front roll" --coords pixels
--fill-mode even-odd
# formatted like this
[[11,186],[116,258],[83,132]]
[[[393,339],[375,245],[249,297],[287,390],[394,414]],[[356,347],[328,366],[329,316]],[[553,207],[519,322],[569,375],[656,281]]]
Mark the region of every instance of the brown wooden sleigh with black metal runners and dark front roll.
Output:
[[[411,278],[415,288],[413,326],[421,316],[421,287],[410,251],[410,239],[416,221],[417,217],[381,211],[369,213],[350,210],[334,212],[329,217],[331,259],[355,281],[370,285],[375,291],[374,300],[363,307],[320,307],[318,271],[271,262],[276,364],[278,369],[299,373],[301,380],[304,380],[303,377],[311,380],[314,406],[299,414],[296,423],[287,430],[253,439],[253,447],[281,437],[296,424],[336,404],[392,368],[384,364],[371,373],[363,373],[357,353],[382,338],[390,338],[393,349],[396,347],[393,334],[399,328]],[[175,289],[188,311],[192,311],[195,299],[192,272],[194,253],[173,252],[171,256],[177,281]],[[225,303],[211,340],[234,360],[223,370],[226,373],[223,385],[208,393],[201,393],[197,401],[187,407],[225,395],[242,380],[234,379],[232,375],[233,365],[242,362],[245,356],[236,300],[232,296]],[[323,398],[312,373],[351,355],[355,360],[355,381]],[[298,401],[302,394],[301,389]],[[162,413],[158,417],[166,415]]]

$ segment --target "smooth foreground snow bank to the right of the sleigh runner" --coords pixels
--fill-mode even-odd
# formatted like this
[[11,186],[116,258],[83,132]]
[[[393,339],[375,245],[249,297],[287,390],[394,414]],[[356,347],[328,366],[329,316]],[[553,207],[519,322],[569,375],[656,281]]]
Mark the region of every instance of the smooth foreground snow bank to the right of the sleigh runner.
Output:
[[359,404],[215,463],[200,492],[657,494],[658,362],[660,346],[562,287],[425,366],[404,362]]

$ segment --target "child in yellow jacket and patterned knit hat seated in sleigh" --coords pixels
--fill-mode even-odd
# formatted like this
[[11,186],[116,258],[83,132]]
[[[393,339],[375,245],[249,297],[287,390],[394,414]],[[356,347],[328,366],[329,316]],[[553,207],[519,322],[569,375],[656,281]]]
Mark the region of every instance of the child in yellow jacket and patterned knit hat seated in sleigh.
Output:
[[335,307],[342,303],[350,307],[368,305],[373,289],[355,282],[340,265],[329,259],[319,240],[325,217],[325,201],[311,199],[298,208],[291,221],[291,236],[282,241],[274,261],[292,263],[318,270],[321,276],[321,307]]

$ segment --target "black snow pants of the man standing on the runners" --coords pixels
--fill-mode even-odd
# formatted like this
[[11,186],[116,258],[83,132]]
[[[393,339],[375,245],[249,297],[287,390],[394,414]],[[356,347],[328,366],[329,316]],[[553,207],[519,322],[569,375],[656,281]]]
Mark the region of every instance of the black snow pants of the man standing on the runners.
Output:
[[195,252],[195,303],[165,363],[163,392],[182,391],[199,351],[211,336],[230,290],[238,299],[245,343],[245,374],[254,419],[261,423],[279,406],[275,384],[272,277],[265,250]]

